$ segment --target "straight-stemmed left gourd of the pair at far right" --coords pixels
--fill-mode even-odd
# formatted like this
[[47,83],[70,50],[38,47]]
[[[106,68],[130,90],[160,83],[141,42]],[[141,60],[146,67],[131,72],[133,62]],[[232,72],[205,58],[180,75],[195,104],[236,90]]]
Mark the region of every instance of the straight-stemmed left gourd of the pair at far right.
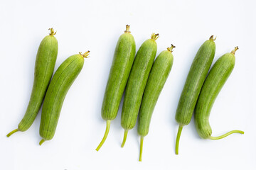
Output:
[[176,138],[176,154],[178,154],[178,143],[181,137],[181,130],[184,125],[190,123],[193,111],[198,100],[199,93],[206,79],[210,65],[215,55],[215,39],[213,35],[201,45],[186,78],[186,83],[178,102],[175,119],[178,123],[178,134]]

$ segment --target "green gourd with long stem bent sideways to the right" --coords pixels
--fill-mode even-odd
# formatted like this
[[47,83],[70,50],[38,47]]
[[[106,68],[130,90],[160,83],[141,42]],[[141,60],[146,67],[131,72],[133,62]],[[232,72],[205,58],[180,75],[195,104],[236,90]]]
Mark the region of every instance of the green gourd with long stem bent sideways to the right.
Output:
[[212,130],[209,124],[210,110],[213,107],[215,98],[218,96],[220,90],[225,84],[225,81],[227,81],[235,67],[236,50],[238,50],[238,47],[235,47],[235,50],[232,52],[221,56],[217,62],[215,62],[213,68],[210,69],[208,77],[206,78],[198,97],[195,110],[195,123],[198,135],[203,139],[219,140],[235,132],[241,134],[244,133],[240,130],[233,130],[219,137],[212,137]]

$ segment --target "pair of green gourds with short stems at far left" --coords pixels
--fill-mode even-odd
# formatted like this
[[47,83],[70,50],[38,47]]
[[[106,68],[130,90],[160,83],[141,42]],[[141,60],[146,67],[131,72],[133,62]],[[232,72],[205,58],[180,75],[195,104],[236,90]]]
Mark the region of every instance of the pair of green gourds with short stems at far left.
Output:
[[[60,111],[68,89],[75,81],[87,58],[89,51],[68,57],[53,75],[55,62],[58,55],[58,41],[56,34],[50,28],[50,34],[41,41],[36,55],[36,65],[31,98],[26,113],[18,124],[18,128],[9,132],[10,137],[14,132],[24,132],[31,127],[42,103],[42,115],[40,124],[40,135],[43,138],[39,145],[46,140],[51,140],[55,134],[60,117]],[[51,79],[53,76],[53,79]],[[51,79],[51,80],[50,80]],[[43,102],[44,98],[44,102]]]

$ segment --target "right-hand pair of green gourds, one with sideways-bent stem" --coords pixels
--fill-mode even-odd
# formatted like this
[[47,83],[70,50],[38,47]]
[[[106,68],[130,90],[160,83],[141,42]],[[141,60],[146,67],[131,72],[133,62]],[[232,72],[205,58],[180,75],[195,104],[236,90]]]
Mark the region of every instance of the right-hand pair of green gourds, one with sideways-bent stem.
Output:
[[233,130],[219,137],[211,136],[212,130],[208,120],[210,110],[225,81],[233,71],[235,51],[238,50],[238,47],[235,47],[232,52],[221,56],[210,69],[215,55],[214,40],[212,35],[199,48],[178,102],[175,116],[179,125],[176,138],[176,154],[178,154],[181,130],[184,125],[190,123],[193,113],[195,113],[196,130],[203,139],[219,140],[235,132],[244,133],[240,130]]

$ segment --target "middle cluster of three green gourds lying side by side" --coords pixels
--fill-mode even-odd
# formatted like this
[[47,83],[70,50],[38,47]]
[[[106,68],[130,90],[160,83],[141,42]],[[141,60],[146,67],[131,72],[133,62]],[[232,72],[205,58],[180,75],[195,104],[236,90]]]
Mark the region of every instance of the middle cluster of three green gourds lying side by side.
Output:
[[97,151],[107,138],[110,121],[117,117],[119,104],[126,87],[121,117],[124,140],[121,146],[124,147],[128,130],[134,128],[139,113],[138,133],[141,136],[139,160],[142,160],[143,139],[149,132],[154,106],[174,61],[172,55],[174,45],[156,57],[157,38],[159,35],[153,33],[151,38],[144,41],[139,47],[135,57],[135,41],[128,25],[120,36],[114,51],[114,59],[102,103],[102,118],[107,121],[107,128]]

